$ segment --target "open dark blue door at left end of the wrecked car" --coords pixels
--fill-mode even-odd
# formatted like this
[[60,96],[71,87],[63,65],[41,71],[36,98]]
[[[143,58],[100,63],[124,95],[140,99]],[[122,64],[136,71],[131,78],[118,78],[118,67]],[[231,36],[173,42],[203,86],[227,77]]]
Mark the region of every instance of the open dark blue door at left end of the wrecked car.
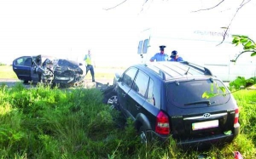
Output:
[[13,70],[17,77],[24,82],[31,81],[32,57],[22,56],[13,61]]

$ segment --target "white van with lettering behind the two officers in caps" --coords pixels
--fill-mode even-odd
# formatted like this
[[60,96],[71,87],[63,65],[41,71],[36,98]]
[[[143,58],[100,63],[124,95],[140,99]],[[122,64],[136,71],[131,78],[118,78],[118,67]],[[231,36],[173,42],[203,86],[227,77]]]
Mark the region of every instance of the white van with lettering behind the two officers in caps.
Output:
[[[172,50],[177,50],[183,60],[207,67],[224,82],[233,81],[238,76],[246,79],[256,77],[256,58],[245,53],[236,60],[242,51],[241,46],[232,44],[230,33],[225,39],[223,35],[224,29],[207,31],[176,28],[166,31],[148,28],[139,36],[137,54],[146,63],[160,52],[160,45],[165,45],[165,53],[169,56]],[[236,64],[232,60],[236,60]]]

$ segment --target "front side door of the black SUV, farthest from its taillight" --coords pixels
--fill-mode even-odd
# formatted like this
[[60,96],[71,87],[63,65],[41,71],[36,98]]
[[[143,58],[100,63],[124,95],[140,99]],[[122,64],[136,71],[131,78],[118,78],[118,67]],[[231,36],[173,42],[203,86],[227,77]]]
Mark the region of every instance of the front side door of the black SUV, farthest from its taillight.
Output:
[[131,90],[134,77],[137,74],[137,68],[131,67],[125,71],[121,80],[119,82],[119,87],[117,88],[118,99],[120,108],[125,112],[125,115],[130,116],[129,108],[127,104],[127,94]]

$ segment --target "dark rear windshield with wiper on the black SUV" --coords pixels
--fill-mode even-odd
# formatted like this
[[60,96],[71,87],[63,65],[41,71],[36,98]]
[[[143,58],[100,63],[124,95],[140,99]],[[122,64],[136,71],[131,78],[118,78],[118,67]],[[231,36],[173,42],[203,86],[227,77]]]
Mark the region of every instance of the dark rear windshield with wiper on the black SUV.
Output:
[[[224,87],[223,82],[215,80],[218,87]],[[194,106],[208,106],[221,105],[230,99],[230,94],[225,88],[226,95],[218,95],[212,98],[202,98],[205,92],[213,94],[224,94],[216,87],[216,84],[209,80],[193,80],[186,82],[172,82],[167,84],[167,98],[171,105],[179,107],[194,107]]]

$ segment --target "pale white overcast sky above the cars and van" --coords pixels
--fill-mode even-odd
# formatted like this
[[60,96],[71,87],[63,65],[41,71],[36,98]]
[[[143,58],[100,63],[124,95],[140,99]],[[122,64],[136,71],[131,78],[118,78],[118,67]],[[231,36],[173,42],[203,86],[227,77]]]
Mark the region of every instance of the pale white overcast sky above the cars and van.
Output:
[[[90,49],[96,65],[137,63],[138,35],[145,28],[213,30],[228,26],[240,1],[225,0],[1,0],[0,62],[47,54],[83,61]],[[256,3],[244,6],[231,30],[255,37]],[[256,39],[256,37],[254,38]],[[158,51],[158,50],[156,50]]]

